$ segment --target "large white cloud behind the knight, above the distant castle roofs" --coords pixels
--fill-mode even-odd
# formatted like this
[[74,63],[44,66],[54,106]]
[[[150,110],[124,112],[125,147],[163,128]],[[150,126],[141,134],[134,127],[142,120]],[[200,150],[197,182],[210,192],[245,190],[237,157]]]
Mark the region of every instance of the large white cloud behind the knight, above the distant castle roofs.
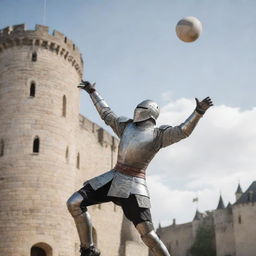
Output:
[[[195,108],[194,100],[179,99],[162,108],[158,125],[178,125]],[[148,170],[155,224],[192,220],[199,210],[215,209],[221,191],[224,202],[234,202],[240,180],[245,190],[255,180],[256,108],[241,111],[214,106],[191,136],[162,149]]]

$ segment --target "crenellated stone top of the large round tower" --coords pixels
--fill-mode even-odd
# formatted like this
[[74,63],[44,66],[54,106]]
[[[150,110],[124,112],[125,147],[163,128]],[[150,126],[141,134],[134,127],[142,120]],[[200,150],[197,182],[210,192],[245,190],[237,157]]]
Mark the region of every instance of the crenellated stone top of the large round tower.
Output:
[[36,25],[34,30],[26,30],[25,24],[8,26],[0,30],[0,53],[14,46],[28,45],[55,52],[66,59],[79,73],[83,74],[83,59],[78,47],[61,32],[49,27]]

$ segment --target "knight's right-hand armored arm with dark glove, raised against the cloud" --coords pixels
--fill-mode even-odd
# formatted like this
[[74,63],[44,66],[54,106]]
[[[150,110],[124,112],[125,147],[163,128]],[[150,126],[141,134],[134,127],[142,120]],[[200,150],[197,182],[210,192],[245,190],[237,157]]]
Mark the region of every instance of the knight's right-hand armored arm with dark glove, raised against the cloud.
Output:
[[210,97],[199,101],[196,98],[196,108],[193,113],[182,124],[172,127],[163,125],[159,127],[159,148],[169,146],[181,139],[188,137],[196,127],[199,119],[204,115],[209,107],[211,107],[212,100]]

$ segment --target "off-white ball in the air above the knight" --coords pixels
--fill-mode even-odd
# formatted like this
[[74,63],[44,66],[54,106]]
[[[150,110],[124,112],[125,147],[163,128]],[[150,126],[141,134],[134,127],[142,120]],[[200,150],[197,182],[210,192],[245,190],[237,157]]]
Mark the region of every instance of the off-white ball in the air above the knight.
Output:
[[184,42],[195,41],[202,32],[202,24],[196,17],[189,16],[181,19],[176,25],[176,34]]

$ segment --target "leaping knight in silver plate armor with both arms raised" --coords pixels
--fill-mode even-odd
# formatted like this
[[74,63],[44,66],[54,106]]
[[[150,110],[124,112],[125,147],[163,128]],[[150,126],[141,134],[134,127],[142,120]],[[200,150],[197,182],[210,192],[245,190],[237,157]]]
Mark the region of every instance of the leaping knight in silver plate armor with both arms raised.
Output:
[[[105,194],[104,197],[101,197],[102,202],[113,201],[122,204],[125,215],[133,221],[142,240],[154,255],[169,256],[168,250],[156,235],[152,225],[149,210],[150,196],[145,179],[146,169],[161,148],[188,137],[212,103],[209,98],[206,98],[208,99],[205,105],[206,109],[204,104],[197,105],[196,110],[184,123],[175,127],[165,125],[157,128],[155,120],[159,115],[159,108],[153,101],[146,100],[140,103],[135,109],[133,120],[117,117],[94,87],[88,84],[86,88],[84,88],[85,86],[82,88],[90,94],[101,118],[111,126],[120,138],[120,143],[116,166],[112,170],[86,181],[84,188],[74,193],[67,202],[81,240],[81,254],[82,256],[99,255],[99,251],[93,246],[92,226],[86,209],[86,206],[99,202],[99,199],[97,201],[91,199],[94,198],[95,193],[99,193]],[[197,103],[199,103],[198,100]],[[129,204],[127,206],[127,203],[124,203],[129,202],[128,200],[131,198],[135,199],[137,204],[136,207],[134,204],[130,208],[139,209],[135,215],[129,213],[131,210]],[[133,217],[138,214],[139,217]],[[90,250],[91,254],[89,254]]]

